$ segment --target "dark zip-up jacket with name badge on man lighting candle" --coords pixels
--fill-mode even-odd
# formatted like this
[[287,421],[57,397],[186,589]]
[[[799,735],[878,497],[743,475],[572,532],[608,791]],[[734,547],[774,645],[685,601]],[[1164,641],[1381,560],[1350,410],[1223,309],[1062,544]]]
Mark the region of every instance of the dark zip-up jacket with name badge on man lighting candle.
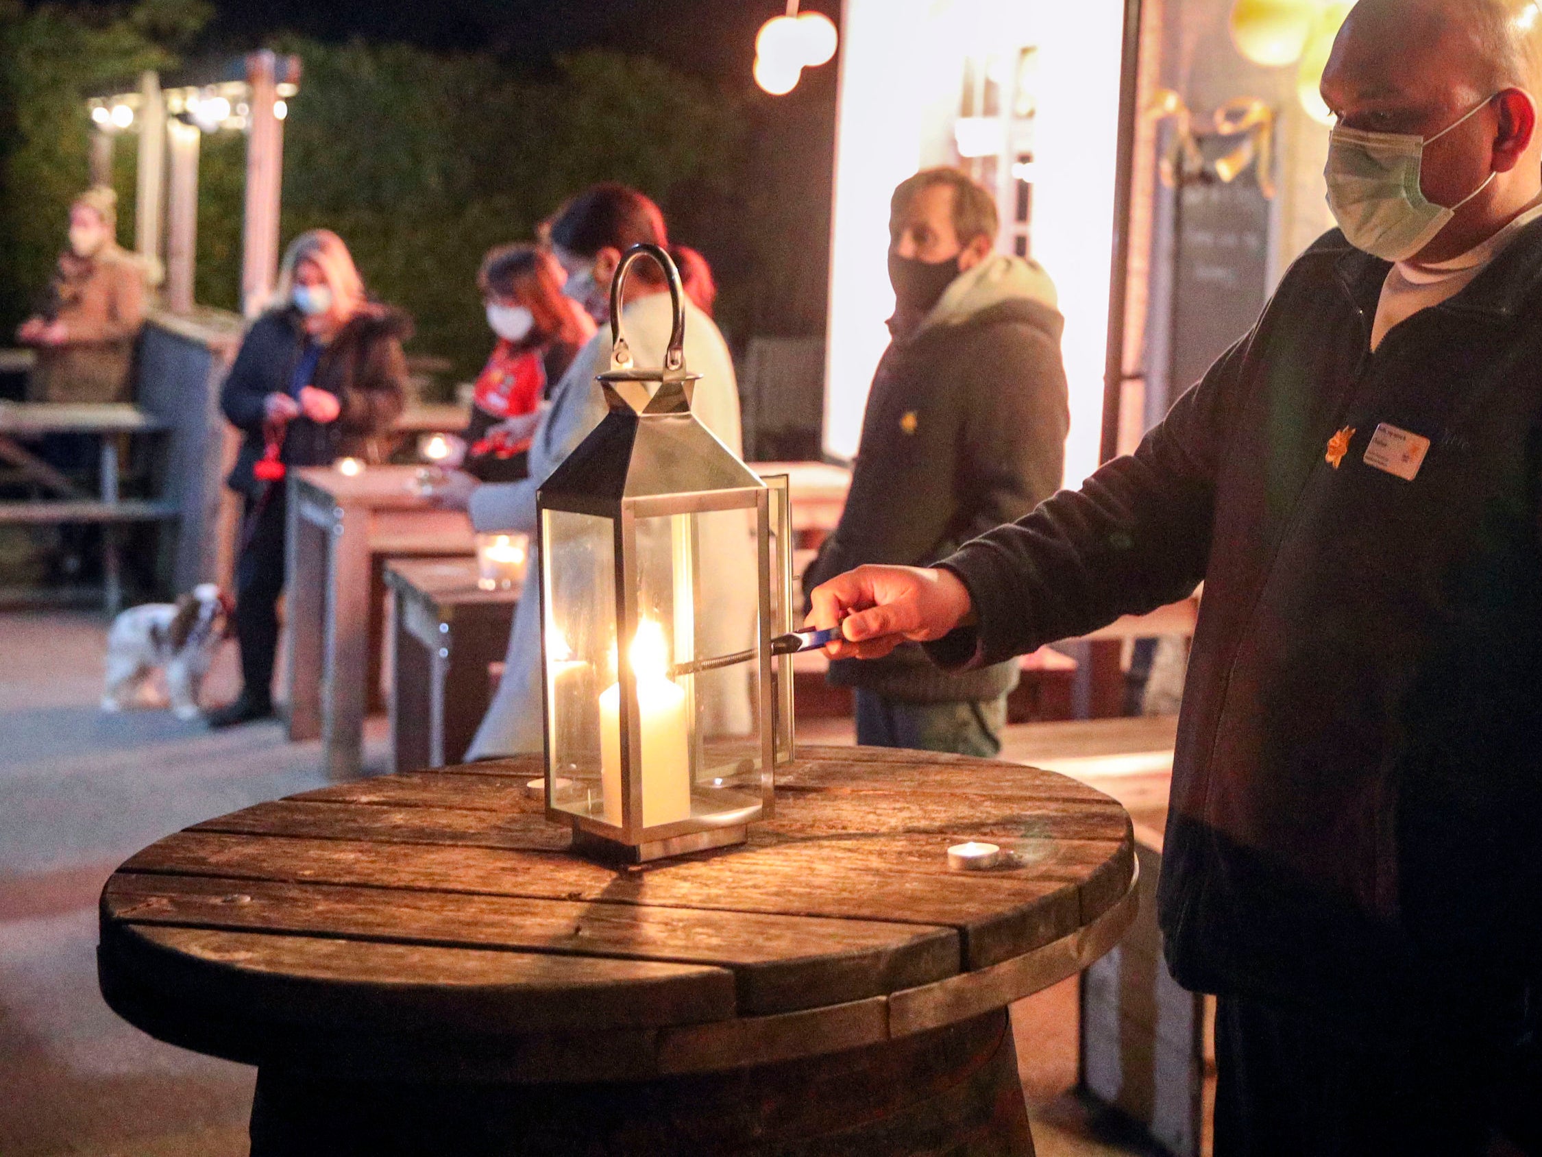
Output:
[[[931,646],[999,662],[1204,580],[1169,964],[1374,1031],[1542,960],[1542,222],[1371,353],[1386,273],[1318,241],[1132,457],[945,562],[979,626]],[[1429,440],[1412,480],[1366,461],[1382,424]]]

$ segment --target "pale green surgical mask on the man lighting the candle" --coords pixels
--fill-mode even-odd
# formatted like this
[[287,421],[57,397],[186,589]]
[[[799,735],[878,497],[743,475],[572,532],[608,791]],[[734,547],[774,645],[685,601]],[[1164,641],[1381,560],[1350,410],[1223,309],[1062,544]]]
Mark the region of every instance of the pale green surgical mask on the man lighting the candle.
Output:
[[1383,261],[1406,261],[1449,224],[1497,173],[1456,205],[1436,205],[1420,188],[1425,147],[1488,108],[1488,97],[1433,137],[1334,128],[1328,145],[1328,207],[1351,245]]

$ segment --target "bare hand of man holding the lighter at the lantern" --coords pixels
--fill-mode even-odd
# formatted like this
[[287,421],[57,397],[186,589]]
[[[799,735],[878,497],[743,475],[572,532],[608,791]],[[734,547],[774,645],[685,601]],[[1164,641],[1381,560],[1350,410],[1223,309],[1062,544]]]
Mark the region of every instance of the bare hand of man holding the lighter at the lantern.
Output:
[[971,609],[956,574],[914,566],[859,566],[816,586],[810,603],[805,626],[840,625],[831,659],[882,659],[904,642],[941,639]]

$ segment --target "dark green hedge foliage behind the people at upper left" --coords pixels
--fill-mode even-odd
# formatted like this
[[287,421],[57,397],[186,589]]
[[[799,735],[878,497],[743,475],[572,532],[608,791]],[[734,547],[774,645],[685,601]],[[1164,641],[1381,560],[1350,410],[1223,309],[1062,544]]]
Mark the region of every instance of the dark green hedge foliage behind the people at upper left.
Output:
[[[190,0],[142,0],[96,19],[0,0],[0,326],[14,326],[48,278],[69,199],[86,182],[85,94],[174,66],[204,19]],[[682,241],[708,247],[722,227],[703,207],[731,202],[742,180],[742,110],[646,57],[584,51],[529,76],[480,52],[295,39],[274,48],[304,68],[284,125],[282,239],[336,230],[372,292],[415,316],[413,350],[449,356],[460,375],[490,346],[475,288],[490,245],[529,239],[588,184],[623,180],[694,224],[700,236],[688,225]],[[133,151],[125,134],[114,164],[125,241]],[[244,164],[237,134],[204,137],[204,304],[236,307]],[[731,293],[725,305],[732,312]]]

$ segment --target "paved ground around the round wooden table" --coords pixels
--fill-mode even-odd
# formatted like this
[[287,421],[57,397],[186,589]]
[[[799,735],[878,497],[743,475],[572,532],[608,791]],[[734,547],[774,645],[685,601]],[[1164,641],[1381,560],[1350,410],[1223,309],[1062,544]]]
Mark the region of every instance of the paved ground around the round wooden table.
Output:
[[[278,724],[210,734],[167,711],[106,716],[105,620],[0,614],[0,1154],[239,1157],[253,1071],[160,1044],[96,989],[96,899],[108,873],[167,831],[319,787],[319,747]],[[210,699],[233,694],[233,654]],[[365,736],[384,768],[384,720]],[[1076,993],[1015,1009],[1041,1157],[1141,1154],[1070,1095]],[[1112,1129],[1112,1131],[1110,1131]]]

